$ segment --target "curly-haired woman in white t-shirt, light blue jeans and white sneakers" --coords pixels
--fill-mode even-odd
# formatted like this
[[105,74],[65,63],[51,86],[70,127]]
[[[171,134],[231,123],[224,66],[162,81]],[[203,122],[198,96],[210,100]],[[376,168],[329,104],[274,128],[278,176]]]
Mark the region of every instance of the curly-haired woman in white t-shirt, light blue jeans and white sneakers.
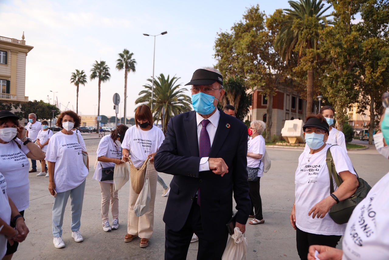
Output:
[[82,157],[82,152],[86,153],[84,139],[82,139],[81,134],[72,131],[80,124],[81,117],[74,111],[62,112],[58,116],[56,125],[63,129],[54,134],[47,145],[49,191],[54,196],[53,243],[56,248],[65,247],[62,240],[62,223],[69,196],[72,206],[72,237],[75,242],[84,240],[79,229],[85,181],[89,172],[89,158],[88,166],[85,166]]

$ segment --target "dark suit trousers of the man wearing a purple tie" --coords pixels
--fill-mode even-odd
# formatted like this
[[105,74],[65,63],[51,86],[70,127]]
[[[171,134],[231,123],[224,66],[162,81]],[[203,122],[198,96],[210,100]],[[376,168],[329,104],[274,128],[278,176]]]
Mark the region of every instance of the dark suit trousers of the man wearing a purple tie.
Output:
[[193,200],[192,208],[184,227],[175,232],[165,225],[165,260],[186,260],[193,233],[198,237],[197,259],[221,259],[226,248],[228,232],[214,233],[211,237],[204,235],[200,206]]

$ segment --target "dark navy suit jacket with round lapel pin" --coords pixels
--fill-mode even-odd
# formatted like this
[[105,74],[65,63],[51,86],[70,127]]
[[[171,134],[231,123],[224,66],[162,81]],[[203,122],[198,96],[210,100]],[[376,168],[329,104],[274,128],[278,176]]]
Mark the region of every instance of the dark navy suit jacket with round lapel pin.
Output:
[[233,194],[237,202],[237,222],[247,222],[251,210],[246,170],[247,137],[247,127],[240,120],[220,111],[209,157],[223,158],[228,173],[221,177],[212,171],[199,172],[196,112],[170,119],[166,138],[154,158],[158,172],[174,175],[163,216],[169,228],[177,232],[184,226],[199,187],[205,235],[226,231]]

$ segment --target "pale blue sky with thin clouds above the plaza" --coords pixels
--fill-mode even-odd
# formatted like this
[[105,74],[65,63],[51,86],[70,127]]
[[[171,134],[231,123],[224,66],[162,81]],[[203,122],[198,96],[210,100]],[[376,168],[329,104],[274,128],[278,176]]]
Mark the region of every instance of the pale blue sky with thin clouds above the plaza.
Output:
[[[101,85],[100,114],[114,115],[113,94],[124,100],[124,71],[115,69],[117,53],[124,48],[133,52],[138,64],[136,72],[128,75],[127,98],[127,115],[133,116],[135,99],[152,76],[154,37],[142,34],[168,32],[156,37],[154,74],[176,75],[184,87],[196,69],[216,64],[216,33],[229,30],[242,19],[246,7],[256,4],[266,14],[289,8],[287,0],[0,0],[0,36],[21,39],[24,31],[26,44],[34,46],[26,68],[30,100],[47,101],[47,95],[53,99],[50,90],[58,91],[55,99],[58,95],[60,103],[70,102],[68,107],[75,110],[76,88],[70,76],[75,69],[84,69],[88,83],[79,91],[82,115],[97,114],[93,105],[98,103],[98,82],[89,81],[89,71],[100,59],[111,73],[110,81]],[[123,109],[122,103],[121,116]]]

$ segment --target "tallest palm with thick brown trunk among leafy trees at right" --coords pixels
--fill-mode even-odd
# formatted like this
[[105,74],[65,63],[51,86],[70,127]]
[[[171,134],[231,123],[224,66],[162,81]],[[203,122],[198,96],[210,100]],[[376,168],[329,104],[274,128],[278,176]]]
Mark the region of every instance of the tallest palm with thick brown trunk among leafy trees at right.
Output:
[[327,20],[330,14],[323,15],[331,5],[324,8],[322,0],[289,1],[289,5],[292,9],[284,9],[288,17],[282,23],[275,46],[286,62],[296,55],[297,64],[300,64],[302,57],[309,56],[305,64],[308,76],[307,115],[309,115],[312,113],[314,102],[314,61],[316,59],[310,50],[318,48],[319,30],[331,24],[331,21]]

